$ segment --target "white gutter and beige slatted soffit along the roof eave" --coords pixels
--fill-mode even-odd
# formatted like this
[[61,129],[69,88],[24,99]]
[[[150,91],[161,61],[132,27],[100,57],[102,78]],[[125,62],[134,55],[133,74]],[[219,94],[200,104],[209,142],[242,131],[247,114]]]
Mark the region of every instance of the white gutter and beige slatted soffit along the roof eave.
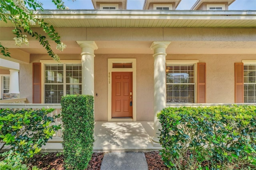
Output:
[[[35,14],[54,27],[256,27],[256,11],[45,10]],[[0,27],[11,26],[0,22]]]

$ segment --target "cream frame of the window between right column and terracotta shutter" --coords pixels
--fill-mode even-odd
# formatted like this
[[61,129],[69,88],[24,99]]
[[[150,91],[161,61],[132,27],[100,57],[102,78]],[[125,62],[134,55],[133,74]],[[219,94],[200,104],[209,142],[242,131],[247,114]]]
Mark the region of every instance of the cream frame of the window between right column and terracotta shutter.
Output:
[[[168,65],[194,65],[194,103],[197,103],[197,74],[198,74],[198,60],[166,60],[166,67]],[[186,83],[187,84],[187,83]],[[191,83],[189,83],[191,84]],[[167,98],[167,81],[166,81],[166,98]],[[168,103],[166,99],[166,105],[173,104]]]

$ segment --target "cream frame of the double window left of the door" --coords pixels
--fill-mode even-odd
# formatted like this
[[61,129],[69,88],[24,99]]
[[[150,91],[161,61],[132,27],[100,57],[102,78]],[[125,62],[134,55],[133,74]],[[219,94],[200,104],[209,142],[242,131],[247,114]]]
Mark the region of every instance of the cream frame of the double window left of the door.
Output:
[[[60,83],[56,83],[56,84],[63,84],[63,95],[66,95],[66,85],[69,85],[70,83],[66,83],[66,65],[69,65],[69,64],[82,64],[82,61],[81,60],[61,60],[60,63],[58,63],[57,61],[54,61],[54,60],[40,60],[40,63],[42,64],[42,67],[41,67],[41,73],[42,73],[42,76],[41,76],[41,101],[42,103],[45,103],[45,71],[44,68],[45,68],[45,65],[54,65],[54,64],[63,64],[63,75],[62,75],[62,78],[63,78],[63,82],[60,82]],[[48,84],[48,83],[46,83]],[[78,83],[79,85],[82,83]],[[72,83],[73,85],[73,83]],[[57,103],[54,103],[54,104],[57,104]]]

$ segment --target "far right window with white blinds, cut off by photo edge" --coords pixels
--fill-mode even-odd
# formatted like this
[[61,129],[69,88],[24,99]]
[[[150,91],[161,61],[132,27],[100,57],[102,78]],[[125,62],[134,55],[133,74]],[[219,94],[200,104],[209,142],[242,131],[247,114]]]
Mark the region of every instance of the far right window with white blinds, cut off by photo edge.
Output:
[[256,65],[244,65],[244,103],[256,103]]

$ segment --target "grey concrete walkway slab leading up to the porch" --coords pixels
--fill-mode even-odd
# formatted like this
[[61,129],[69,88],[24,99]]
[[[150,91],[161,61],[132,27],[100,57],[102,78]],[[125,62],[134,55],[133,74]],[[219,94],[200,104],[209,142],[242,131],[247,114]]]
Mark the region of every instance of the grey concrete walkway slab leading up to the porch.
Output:
[[143,152],[106,152],[100,170],[148,170]]

